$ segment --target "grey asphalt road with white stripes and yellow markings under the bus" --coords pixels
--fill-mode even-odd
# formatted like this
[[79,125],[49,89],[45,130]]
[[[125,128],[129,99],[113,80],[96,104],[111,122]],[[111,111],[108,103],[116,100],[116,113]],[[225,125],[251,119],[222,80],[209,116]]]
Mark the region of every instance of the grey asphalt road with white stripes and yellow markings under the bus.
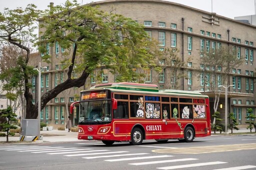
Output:
[[256,136],[210,136],[192,143],[100,141],[0,145],[0,170],[256,170]]

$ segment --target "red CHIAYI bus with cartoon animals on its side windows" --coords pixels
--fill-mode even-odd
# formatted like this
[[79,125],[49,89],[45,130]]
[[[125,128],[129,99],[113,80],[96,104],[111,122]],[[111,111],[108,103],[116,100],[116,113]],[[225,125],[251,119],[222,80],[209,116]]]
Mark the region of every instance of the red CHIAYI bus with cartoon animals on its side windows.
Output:
[[192,142],[210,135],[208,96],[199,92],[158,90],[156,85],[108,83],[81,91],[79,140],[99,140],[106,145],[143,140]]

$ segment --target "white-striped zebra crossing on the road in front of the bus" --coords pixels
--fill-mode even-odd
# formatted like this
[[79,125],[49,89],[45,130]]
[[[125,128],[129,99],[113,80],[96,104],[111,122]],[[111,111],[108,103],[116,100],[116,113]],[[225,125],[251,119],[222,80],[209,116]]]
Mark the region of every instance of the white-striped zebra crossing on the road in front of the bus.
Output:
[[[79,147],[51,147],[51,146],[37,146],[37,145],[13,145],[0,147],[1,151],[8,152],[29,152],[33,154],[47,154],[47,155],[61,155],[63,157],[80,157],[85,160],[101,159],[104,162],[114,163],[121,162],[131,166],[148,166],[154,165],[155,169],[158,170],[175,170],[184,169],[191,167],[198,167],[205,169],[213,169],[214,165],[228,165],[227,162],[213,161],[203,162],[196,158],[175,158],[176,156],[164,154],[155,155],[154,153],[130,153],[129,151],[111,151],[109,149],[93,149],[85,148],[80,149]],[[118,158],[116,158],[118,157]],[[143,161],[144,160],[144,161]],[[177,165],[182,163],[182,165]],[[160,166],[158,166],[160,165]],[[210,167],[212,166],[212,167]],[[256,166],[247,165],[239,167],[228,167],[215,170],[247,170],[256,169]]]

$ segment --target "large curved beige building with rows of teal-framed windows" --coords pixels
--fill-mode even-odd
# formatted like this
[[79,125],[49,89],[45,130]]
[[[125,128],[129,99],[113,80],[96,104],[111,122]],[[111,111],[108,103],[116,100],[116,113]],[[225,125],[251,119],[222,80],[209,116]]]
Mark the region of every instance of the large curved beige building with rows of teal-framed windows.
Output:
[[[110,11],[113,7],[116,13],[122,14],[136,20],[145,26],[148,35],[159,42],[159,48],[176,48],[177,56],[186,63],[183,73],[186,78],[173,80],[168,77],[168,69],[160,76],[153,71],[147,73],[145,83],[159,85],[160,88],[175,88],[179,90],[201,91],[209,95],[211,102],[214,96],[207,84],[202,83],[200,77],[195,76],[195,68],[204,67],[198,63],[200,49],[214,49],[220,45],[235,46],[237,57],[243,59],[238,68],[233,68],[229,76],[228,88],[228,113],[233,112],[239,124],[245,124],[246,109],[253,108],[256,104],[254,95],[255,72],[255,50],[256,50],[256,26],[238,22],[216,13],[206,12],[178,3],[162,0],[106,0],[93,2],[92,5],[99,5],[101,9]],[[47,69],[41,77],[41,93],[53,88],[61,80],[61,65],[59,58],[62,55],[62,48],[58,44],[48,46],[48,52],[52,55],[51,64],[42,62]],[[34,58],[31,63],[37,65],[40,57]],[[206,68],[205,68],[206,69]],[[205,75],[206,78],[207,75]],[[102,83],[114,82],[114,76],[107,70],[102,73]],[[59,94],[52,99],[41,111],[41,120],[55,127],[63,126],[67,115],[65,101],[70,104],[76,100],[79,91],[94,85],[96,81],[88,79],[84,87],[71,89],[66,93]],[[32,79],[34,88],[32,94],[36,98],[37,79]],[[224,84],[223,84],[224,85]],[[222,89],[223,90],[223,89]],[[221,93],[219,106],[224,106],[224,92]],[[218,111],[224,115],[224,107]],[[213,110],[211,110],[213,113]],[[74,115],[74,124],[77,124],[77,115]]]

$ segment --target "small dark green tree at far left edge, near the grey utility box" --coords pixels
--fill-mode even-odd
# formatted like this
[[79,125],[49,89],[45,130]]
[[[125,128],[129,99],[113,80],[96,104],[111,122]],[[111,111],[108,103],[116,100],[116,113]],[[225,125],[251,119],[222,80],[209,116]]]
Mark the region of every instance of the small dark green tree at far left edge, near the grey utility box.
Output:
[[0,127],[2,128],[2,132],[6,132],[6,142],[9,142],[8,136],[14,136],[14,133],[9,132],[10,129],[17,129],[16,126],[14,126],[12,123],[17,122],[17,119],[15,118],[17,115],[12,112],[11,107],[8,106],[7,109],[0,110],[0,115],[2,118],[5,118],[5,122],[0,124]]

